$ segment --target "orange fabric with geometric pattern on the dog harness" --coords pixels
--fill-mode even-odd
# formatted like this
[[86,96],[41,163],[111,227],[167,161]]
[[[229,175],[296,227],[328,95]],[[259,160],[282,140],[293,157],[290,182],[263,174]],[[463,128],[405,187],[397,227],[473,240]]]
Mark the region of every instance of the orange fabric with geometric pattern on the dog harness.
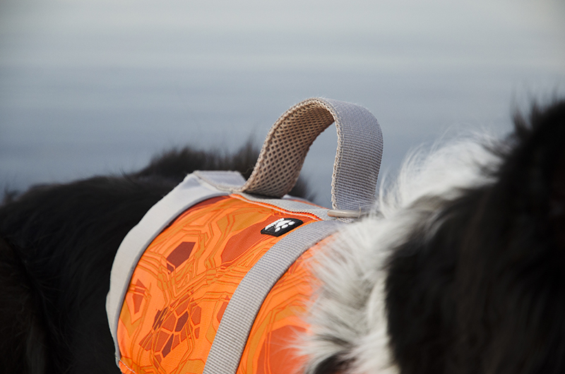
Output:
[[[260,234],[280,218],[319,220],[245,200],[210,198],[169,225],[145,250],[121,308],[118,343],[123,373],[202,373],[230,297],[280,237]],[[292,343],[307,326],[299,318],[313,292],[304,253],[259,310],[238,374],[296,373]]]

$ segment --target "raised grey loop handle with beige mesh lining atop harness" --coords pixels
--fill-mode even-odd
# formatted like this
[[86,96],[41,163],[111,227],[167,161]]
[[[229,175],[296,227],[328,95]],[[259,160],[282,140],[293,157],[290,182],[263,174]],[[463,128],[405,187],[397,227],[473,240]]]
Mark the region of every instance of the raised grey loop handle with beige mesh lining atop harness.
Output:
[[383,152],[381,127],[364,107],[333,99],[307,99],[280,116],[270,128],[251,176],[235,191],[275,198],[289,193],[310,145],[334,121],[338,150],[333,164],[333,209],[371,207]]

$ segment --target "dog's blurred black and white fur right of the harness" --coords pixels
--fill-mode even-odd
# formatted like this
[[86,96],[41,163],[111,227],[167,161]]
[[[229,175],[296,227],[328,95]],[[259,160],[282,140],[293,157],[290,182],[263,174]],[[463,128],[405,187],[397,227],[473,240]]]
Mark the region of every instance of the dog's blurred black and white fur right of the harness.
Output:
[[318,372],[565,371],[565,102],[408,162],[323,261]]

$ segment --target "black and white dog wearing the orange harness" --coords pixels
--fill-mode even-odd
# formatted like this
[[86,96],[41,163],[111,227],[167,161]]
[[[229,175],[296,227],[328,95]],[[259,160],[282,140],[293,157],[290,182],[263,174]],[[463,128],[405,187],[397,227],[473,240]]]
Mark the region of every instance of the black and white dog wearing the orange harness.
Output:
[[[515,123],[412,157],[323,251],[307,373],[565,373],[565,101]],[[105,297],[119,243],[187,173],[249,175],[255,156],[175,151],[6,198],[0,370],[117,372]]]

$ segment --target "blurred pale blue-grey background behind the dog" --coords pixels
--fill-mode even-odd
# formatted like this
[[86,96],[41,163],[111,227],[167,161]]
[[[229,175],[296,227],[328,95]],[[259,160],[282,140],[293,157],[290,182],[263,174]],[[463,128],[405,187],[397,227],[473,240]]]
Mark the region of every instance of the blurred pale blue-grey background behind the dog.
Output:
[[[293,104],[379,120],[381,175],[460,131],[565,95],[562,0],[0,0],[0,188],[261,145]],[[303,175],[330,205],[335,127]]]

